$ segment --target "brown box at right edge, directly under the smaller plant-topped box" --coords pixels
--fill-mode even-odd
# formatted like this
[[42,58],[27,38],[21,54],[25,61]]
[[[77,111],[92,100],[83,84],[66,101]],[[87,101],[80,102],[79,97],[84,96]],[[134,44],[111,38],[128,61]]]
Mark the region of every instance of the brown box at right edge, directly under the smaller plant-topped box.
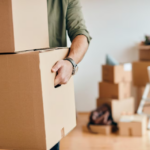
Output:
[[149,82],[147,67],[150,61],[138,61],[132,64],[132,77],[134,86],[145,86]]

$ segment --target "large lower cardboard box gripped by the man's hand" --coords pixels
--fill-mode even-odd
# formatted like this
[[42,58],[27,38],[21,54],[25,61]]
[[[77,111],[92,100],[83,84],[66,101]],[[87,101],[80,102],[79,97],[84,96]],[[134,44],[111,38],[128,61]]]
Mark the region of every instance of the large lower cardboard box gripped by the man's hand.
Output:
[[73,78],[54,88],[69,50],[0,55],[0,147],[49,150],[76,126]]

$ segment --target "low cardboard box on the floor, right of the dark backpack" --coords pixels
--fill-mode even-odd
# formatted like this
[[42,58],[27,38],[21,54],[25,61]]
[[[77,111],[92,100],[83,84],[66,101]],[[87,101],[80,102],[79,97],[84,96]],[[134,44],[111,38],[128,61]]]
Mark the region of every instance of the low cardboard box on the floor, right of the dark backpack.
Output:
[[119,122],[119,134],[121,136],[142,136],[146,133],[146,124],[146,116],[123,116]]

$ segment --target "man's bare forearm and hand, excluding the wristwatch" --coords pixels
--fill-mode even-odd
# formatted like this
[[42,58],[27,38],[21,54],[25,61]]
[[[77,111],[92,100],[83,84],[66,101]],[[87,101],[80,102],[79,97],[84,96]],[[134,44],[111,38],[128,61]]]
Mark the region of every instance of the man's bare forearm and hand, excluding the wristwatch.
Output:
[[[84,57],[88,49],[87,37],[84,35],[78,35],[73,40],[70,53],[68,57],[72,58],[76,64],[78,64]],[[52,68],[52,72],[57,72],[58,75],[55,78],[55,86],[58,84],[66,84],[72,76],[72,64],[67,60],[58,61]]]

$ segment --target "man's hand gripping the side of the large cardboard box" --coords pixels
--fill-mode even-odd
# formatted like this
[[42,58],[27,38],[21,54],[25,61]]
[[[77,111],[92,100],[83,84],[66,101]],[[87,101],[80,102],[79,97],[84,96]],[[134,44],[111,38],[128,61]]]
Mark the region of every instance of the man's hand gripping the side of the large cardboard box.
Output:
[[57,86],[58,84],[66,84],[72,76],[72,70],[73,66],[69,61],[58,61],[52,68],[52,72],[58,73],[55,78],[54,85]]

